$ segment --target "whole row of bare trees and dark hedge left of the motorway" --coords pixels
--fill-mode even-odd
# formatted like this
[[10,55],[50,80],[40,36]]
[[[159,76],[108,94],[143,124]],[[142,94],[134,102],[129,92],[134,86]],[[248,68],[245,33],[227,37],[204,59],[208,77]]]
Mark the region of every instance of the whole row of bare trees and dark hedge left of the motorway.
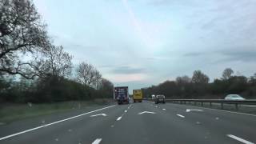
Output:
[[90,63],[77,68],[55,46],[30,0],[0,2],[0,102],[112,98],[113,83]]

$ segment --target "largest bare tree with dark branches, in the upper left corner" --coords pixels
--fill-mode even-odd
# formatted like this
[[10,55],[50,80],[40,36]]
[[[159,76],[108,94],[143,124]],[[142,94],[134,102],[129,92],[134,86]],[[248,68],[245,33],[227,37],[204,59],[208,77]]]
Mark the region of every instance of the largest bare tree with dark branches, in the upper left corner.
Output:
[[46,26],[30,0],[0,1],[0,72],[34,78],[34,61],[22,56],[49,50]]

